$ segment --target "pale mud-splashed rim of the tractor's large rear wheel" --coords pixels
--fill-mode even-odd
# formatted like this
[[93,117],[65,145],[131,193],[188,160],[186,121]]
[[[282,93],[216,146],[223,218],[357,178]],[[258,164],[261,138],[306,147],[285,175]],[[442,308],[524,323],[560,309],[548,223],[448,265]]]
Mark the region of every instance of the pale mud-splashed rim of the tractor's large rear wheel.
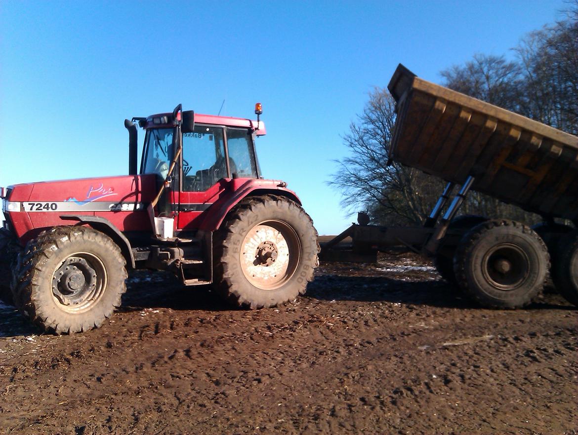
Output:
[[291,279],[301,257],[295,230],[285,222],[264,221],[245,236],[240,251],[241,269],[255,287],[273,290]]

